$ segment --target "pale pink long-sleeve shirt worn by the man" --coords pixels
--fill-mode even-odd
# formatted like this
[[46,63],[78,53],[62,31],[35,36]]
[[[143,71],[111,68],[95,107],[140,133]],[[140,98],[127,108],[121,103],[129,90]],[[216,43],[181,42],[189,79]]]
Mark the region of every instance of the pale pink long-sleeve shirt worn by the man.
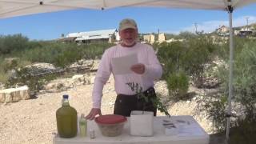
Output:
[[103,86],[110,78],[110,74],[113,70],[111,58],[123,57],[134,53],[138,56],[138,63],[145,65],[145,73],[114,74],[114,88],[117,94],[135,94],[134,91],[130,90],[130,87],[126,84],[127,82],[138,83],[139,86],[142,86],[142,90],[144,91],[154,86],[154,79],[161,78],[162,66],[157,56],[154,54],[152,46],[138,42],[132,47],[124,47],[121,45],[112,46],[102,55],[94,80],[93,108],[101,107]]

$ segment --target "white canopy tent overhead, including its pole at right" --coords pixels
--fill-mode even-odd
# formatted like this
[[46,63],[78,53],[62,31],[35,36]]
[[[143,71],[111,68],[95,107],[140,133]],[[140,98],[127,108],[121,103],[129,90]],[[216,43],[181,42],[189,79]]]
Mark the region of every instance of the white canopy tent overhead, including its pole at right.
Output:
[[168,7],[183,9],[225,10],[230,20],[230,82],[227,111],[226,138],[229,139],[231,98],[233,95],[233,30],[232,13],[238,7],[256,0],[0,0],[0,18],[26,14],[47,13],[74,9],[111,9],[126,6]]

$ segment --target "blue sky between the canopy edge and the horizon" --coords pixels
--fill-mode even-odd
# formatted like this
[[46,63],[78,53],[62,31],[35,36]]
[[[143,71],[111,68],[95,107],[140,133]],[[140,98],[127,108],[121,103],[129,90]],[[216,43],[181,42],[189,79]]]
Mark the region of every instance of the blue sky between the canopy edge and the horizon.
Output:
[[[181,31],[210,32],[228,26],[228,14],[218,10],[185,10],[167,8],[118,8],[111,10],[68,10],[0,19],[0,34],[22,34],[31,40],[50,40],[61,34],[118,28],[122,18],[134,18],[139,32],[178,34]],[[234,26],[256,22],[256,4],[234,10]]]

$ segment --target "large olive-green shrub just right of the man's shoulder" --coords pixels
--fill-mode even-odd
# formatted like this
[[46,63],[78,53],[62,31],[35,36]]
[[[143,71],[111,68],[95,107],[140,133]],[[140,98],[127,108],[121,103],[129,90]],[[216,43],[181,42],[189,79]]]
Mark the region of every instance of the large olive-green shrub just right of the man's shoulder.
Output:
[[216,56],[217,47],[211,38],[198,36],[184,42],[160,44],[158,58],[164,64],[164,74],[184,70],[197,79],[204,73],[204,65]]

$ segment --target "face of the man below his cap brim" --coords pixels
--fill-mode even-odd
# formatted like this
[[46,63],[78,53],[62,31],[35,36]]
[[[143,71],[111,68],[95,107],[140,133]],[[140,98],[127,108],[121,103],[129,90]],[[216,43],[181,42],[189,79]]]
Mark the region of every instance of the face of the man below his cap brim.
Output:
[[125,29],[119,31],[119,35],[122,39],[122,44],[124,46],[133,46],[138,37],[138,30],[135,29]]

